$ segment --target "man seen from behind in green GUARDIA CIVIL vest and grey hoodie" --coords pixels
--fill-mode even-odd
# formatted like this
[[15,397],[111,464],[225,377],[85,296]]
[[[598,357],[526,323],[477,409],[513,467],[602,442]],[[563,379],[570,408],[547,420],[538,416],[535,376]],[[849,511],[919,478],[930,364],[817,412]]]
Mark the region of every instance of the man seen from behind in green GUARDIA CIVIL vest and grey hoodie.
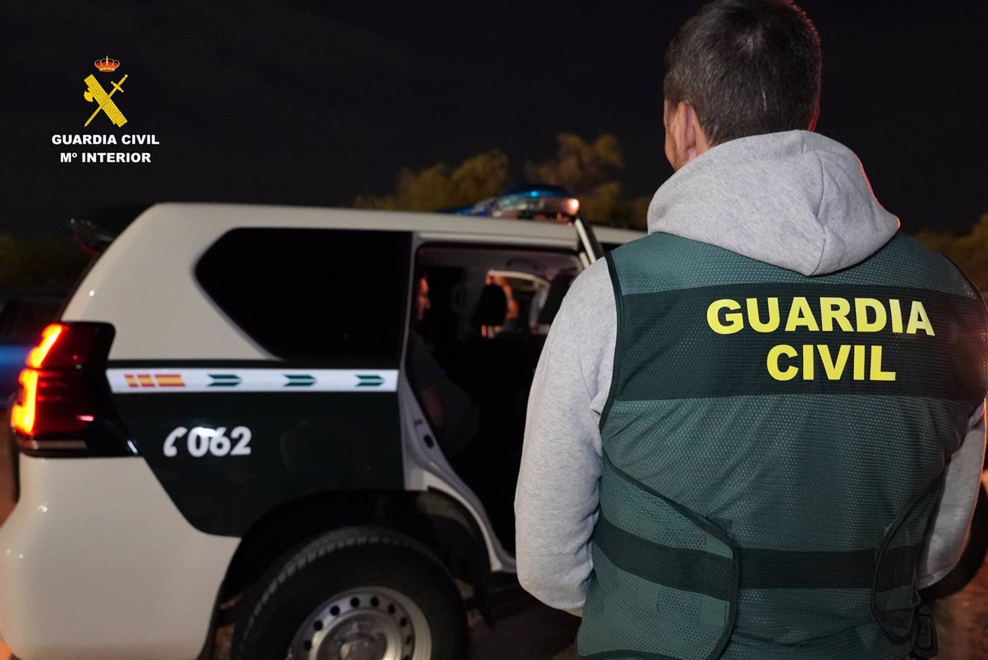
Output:
[[934,652],[916,589],[971,520],[988,321],[812,132],[820,66],[788,0],[704,6],[666,55],[649,234],[552,325],[518,571],[582,610],[581,657]]

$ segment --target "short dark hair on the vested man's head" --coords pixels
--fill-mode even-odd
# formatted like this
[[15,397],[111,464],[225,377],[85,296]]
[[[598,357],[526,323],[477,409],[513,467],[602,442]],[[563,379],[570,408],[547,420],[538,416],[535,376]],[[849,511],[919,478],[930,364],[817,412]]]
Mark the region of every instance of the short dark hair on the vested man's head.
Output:
[[713,144],[809,128],[820,105],[820,37],[791,0],[714,0],[666,51],[663,92],[697,112]]

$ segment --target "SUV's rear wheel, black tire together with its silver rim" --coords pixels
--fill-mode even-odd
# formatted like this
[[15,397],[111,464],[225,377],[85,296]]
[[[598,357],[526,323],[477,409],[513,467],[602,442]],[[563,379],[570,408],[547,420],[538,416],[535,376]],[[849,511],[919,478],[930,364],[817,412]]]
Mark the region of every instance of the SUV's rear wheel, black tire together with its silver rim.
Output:
[[344,528],[262,578],[233,631],[233,660],[463,660],[466,614],[453,577],[414,538]]

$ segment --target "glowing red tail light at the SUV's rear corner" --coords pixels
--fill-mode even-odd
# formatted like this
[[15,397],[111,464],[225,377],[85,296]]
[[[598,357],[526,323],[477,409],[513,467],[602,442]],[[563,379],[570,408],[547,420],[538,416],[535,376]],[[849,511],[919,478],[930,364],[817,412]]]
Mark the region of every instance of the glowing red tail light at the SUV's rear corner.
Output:
[[[89,452],[107,444],[111,427],[119,436],[106,381],[106,360],[113,326],[106,323],[57,323],[44,328],[41,342],[21,371],[11,426],[22,450]],[[97,427],[94,429],[93,427]],[[109,454],[117,454],[112,451]]]

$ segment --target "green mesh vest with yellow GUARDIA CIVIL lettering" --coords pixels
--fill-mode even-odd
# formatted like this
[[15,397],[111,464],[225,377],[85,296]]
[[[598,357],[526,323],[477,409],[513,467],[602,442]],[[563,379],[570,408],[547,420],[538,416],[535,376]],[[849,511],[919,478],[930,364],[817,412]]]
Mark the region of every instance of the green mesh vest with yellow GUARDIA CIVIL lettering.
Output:
[[804,277],[655,233],[608,256],[584,658],[894,658],[988,383],[984,302],[897,235]]

